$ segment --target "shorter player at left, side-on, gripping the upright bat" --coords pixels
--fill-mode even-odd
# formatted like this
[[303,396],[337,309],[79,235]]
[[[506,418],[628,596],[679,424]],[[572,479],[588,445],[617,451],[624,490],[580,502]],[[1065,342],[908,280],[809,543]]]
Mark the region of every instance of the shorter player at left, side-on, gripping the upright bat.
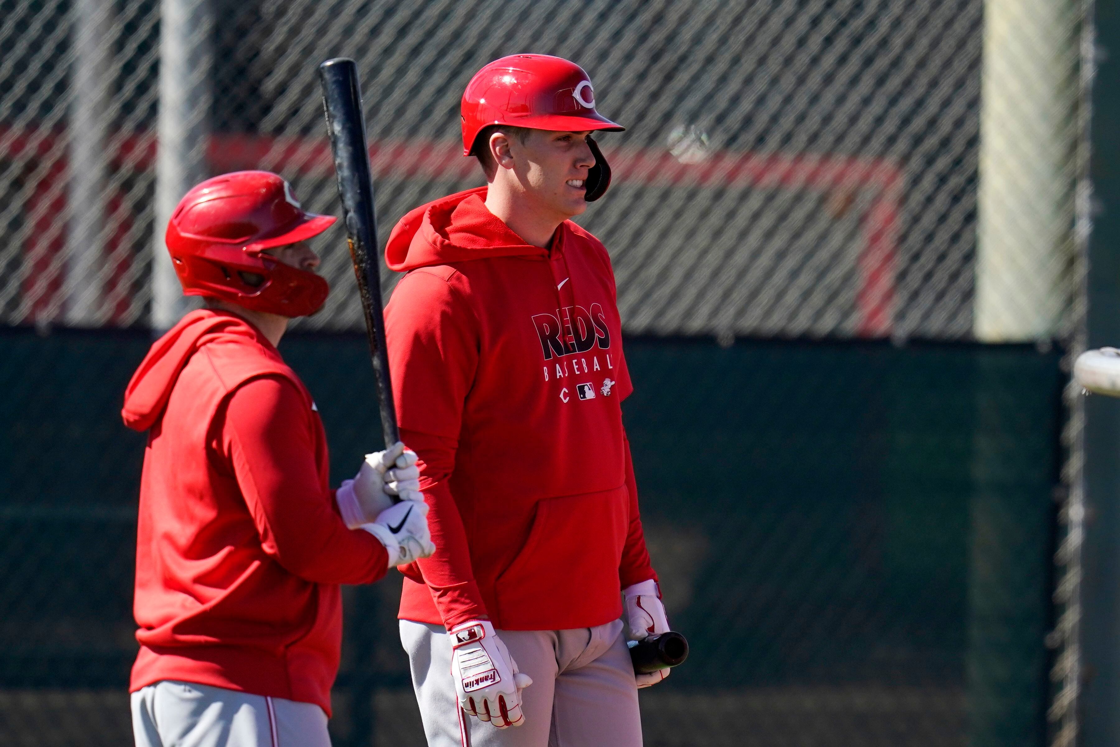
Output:
[[168,225],[183,290],[206,308],[151,346],[124,395],[125,424],[148,431],[138,747],[328,746],[339,585],[433,550],[416,455],[367,455],[332,491],[315,402],[277,351],[326,300],[306,240],[334,221],[276,174],[239,171],[187,193]]

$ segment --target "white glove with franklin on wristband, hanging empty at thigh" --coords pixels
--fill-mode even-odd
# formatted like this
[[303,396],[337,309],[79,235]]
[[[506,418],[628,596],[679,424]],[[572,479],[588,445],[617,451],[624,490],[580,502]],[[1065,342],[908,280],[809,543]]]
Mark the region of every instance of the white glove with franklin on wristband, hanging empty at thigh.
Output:
[[456,625],[450,634],[451,676],[463,710],[498,729],[524,723],[521,691],[533,681],[517,671],[494,625],[470,620]]

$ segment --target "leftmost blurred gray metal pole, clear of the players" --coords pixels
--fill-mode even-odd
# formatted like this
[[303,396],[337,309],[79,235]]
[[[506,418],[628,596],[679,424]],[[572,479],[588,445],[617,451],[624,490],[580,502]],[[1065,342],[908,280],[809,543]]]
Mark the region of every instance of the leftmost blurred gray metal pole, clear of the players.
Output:
[[73,7],[66,195],[69,217],[63,302],[66,324],[78,327],[102,321],[111,9],[112,3],[101,0],[75,0]]

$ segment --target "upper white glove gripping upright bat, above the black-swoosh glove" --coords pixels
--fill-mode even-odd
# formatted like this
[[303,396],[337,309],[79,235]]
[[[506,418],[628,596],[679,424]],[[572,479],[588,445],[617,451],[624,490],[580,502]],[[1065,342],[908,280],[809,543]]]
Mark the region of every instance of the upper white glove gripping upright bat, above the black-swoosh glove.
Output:
[[400,441],[384,451],[365,455],[354,479],[344,479],[335,494],[338,511],[349,529],[376,521],[396,498],[423,503],[417,454]]

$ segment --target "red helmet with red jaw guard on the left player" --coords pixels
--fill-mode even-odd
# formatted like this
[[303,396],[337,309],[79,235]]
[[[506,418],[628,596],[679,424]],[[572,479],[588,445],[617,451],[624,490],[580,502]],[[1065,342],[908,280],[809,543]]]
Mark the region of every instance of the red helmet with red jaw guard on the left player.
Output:
[[327,300],[327,281],[261,252],[310,239],[334,222],[333,215],[305,212],[276,174],[234,171],[203,181],[179,200],[166,241],[185,295],[301,317]]

